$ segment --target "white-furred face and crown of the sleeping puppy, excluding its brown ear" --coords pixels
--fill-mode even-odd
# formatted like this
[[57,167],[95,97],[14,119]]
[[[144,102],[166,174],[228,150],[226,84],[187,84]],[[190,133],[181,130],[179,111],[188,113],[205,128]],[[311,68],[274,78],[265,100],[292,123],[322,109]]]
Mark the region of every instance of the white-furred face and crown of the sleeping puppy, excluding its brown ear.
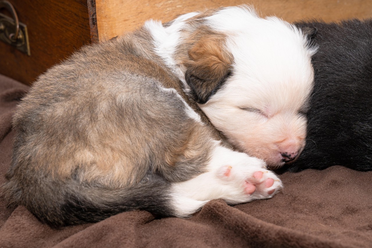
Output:
[[215,29],[231,33],[226,47],[233,63],[224,85],[199,106],[241,152],[271,168],[294,161],[305,146],[315,49],[301,31],[276,18],[249,16],[236,28],[232,16],[225,22],[209,18]]

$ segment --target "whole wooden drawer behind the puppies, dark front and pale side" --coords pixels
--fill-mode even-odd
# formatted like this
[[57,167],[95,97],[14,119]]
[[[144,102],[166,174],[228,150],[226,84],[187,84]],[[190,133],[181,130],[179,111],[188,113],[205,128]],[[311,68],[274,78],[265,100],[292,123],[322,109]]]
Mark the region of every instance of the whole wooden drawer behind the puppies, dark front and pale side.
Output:
[[253,4],[262,16],[277,15],[290,22],[372,17],[371,0],[9,1],[28,26],[31,56],[0,42],[0,74],[26,84],[84,44],[133,30],[150,18],[165,22],[187,12],[243,3]]

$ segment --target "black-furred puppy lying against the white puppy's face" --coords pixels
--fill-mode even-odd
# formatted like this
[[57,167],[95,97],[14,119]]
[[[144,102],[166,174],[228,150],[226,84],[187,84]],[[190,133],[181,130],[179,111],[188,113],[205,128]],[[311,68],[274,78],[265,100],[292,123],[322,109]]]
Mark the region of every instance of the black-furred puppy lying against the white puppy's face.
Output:
[[318,29],[308,142],[290,171],[372,169],[372,20],[299,23]]

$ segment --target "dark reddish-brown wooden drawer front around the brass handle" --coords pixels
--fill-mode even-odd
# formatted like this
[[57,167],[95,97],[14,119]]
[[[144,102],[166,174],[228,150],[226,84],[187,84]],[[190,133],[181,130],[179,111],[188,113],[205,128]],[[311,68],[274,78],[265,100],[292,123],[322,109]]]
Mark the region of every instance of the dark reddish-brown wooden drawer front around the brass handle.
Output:
[[[0,73],[30,84],[90,42],[87,0],[10,0],[28,27],[31,57],[0,42]],[[6,14],[3,10],[2,13]]]

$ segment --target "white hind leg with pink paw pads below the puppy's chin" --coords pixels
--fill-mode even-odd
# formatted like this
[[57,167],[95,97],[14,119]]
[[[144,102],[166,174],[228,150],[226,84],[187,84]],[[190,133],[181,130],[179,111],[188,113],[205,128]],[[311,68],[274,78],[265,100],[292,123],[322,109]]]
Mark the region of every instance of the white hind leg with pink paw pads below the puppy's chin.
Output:
[[172,187],[174,209],[185,216],[198,210],[192,206],[200,208],[213,199],[238,204],[270,198],[282,188],[282,182],[266,169],[263,160],[216,145],[205,173]]

